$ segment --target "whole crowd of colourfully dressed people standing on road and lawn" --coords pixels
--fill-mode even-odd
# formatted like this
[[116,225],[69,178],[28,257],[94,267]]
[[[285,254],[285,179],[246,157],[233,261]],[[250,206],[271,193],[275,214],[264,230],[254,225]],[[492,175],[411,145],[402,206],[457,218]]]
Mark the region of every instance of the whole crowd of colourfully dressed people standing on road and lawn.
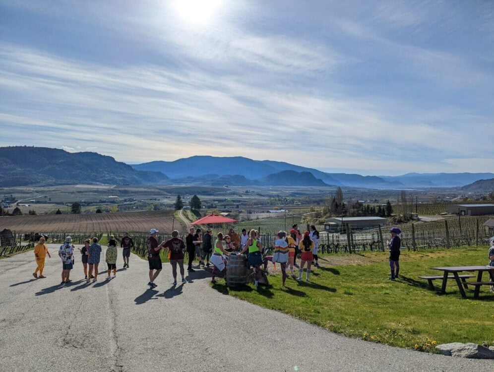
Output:
[[[319,232],[314,225],[310,226],[310,231],[302,234],[300,229],[295,224],[290,233],[280,231],[276,236],[276,241],[272,255],[266,255],[265,249],[262,247],[259,232],[250,230],[247,233],[246,229],[242,229],[239,236],[234,229],[230,229],[228,234],[218,233],[216,240],[213,239],[213,232],[207,229],[205,234],[200,228],[190,228],[185,242],[179,238],[179,232],[174,230],[172,238],[158,243],[159,231],[151,229],[149,238],[146,241],[148,248],[149,261],[149,282],[150,288],[157,286],[156,278],[163,269],[160,251],[163,249],[168,255],[172,266],[173,284],[177,284],[177,266],[180,270],[182,283],[186,283],[184,258],[185,251],[188,255],[187,271],[195,271],[192,268],[194,259],[199,260],[198,267],[212,267],[211,281],[216,282],[216,276],[221,273],[226,279],[228,270],[228,256],[230,254],[246,254],[247,266],[253,268],[255,280],[254,285],[258,288],[261,278],[261,267],[267,272],[268,262],[272,262],[276,269],[276,264],[279,264],[282,273],[282,285],[285,286],[287,275],[287,267],[290,269],[291,277],[297,281],[302,280],[304,268],[306,268],[306,281],[309,282],[312,267],[318,267],[318,247],[319,247]],[[391,269],[390,280],[396,280],[400,272],[400,248],[401,240],[399,235],[401,230],[393,227],[390,229],[391,239],[387,242],[389,248],[389,266]],[[214,244],[213,244],[214,242]],[[489,249],[490,266],[494,266],[494,241],[491,242]],[[122,256],[124,260],[124,268],[129,267],[130,250],[134,247],[134,242],[128,233],[124,233],[124,237],[120,244],[111,235],[108,241],[108,248],[105,253],[105,262],[107,263],[106,279],[117,277],[117,257],[120,245],[122,248]],[[58,255],[62,260],[62,283],[70,283],[70,271],[74,264],[74,249],[72,239],[66,237],[64,243],[59,249]],[[97,281],[99,273],[99,263],[101,259],[102,248],[98,244],[98,238],[89,239],[84,242],[84,247],[79,248],[82,256],[82,266],[84,277],[86,280]],[[35,278],[45,278],[43,270],[45,267],[46,256],[51,258],[50,252],[45,242],[45,238],[41,237],[39,243],[34,248],[37,267],[33,272]],[[300,266],[297,264],[297,258],[300,258]],[[294,267],[298,269],[298,275],[295,275]],[[491,288],[494,292],[494,288]]]

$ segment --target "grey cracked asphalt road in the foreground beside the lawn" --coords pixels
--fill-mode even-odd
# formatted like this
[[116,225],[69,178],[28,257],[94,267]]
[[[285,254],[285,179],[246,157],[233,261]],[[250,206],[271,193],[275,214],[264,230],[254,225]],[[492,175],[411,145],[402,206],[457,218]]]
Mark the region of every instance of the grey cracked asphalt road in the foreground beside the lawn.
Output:
[[[56,248],[51,248],[56,252]],[[204,271],[172,288],[165,265],[155,290],[135,255],[117,278],[61,286],[33,252],[0,260],[1,371],[492,371],[492,361],[429,355],[346,338],[220,294]],[[119,266],[122,260],[119,257]],[[102,263],[103,265],[103,263]]]

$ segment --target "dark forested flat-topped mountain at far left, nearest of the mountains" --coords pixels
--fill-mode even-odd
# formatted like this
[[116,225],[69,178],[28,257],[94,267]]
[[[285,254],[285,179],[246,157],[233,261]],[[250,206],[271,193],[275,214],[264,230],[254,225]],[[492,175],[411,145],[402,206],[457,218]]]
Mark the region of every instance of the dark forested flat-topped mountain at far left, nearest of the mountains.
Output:
[[0,186],[36,184],[138,185],[168,179],[159,172],[137,171],[95,152],[69,153],[46,147],[0,147]]

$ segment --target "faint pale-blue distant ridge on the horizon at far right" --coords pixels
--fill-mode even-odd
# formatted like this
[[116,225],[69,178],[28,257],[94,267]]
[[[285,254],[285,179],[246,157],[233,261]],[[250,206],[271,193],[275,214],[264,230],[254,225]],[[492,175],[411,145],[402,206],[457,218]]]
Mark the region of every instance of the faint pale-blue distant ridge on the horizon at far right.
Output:
[[379,176],[407,187],[458,187],[494,178],[494,173],[407,173],[402,176]]

